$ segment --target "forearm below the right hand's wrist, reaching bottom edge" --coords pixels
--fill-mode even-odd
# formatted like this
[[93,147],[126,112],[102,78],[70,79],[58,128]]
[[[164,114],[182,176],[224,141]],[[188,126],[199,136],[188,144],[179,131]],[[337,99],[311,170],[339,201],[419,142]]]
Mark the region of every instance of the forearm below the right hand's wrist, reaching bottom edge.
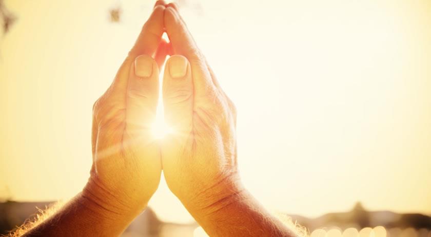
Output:
[[[298,236],[272,216],[242,185],[212,187],[204,199],[186,204],[192,216],[210,236]],[[223,193],[222,193],[223,192]]]

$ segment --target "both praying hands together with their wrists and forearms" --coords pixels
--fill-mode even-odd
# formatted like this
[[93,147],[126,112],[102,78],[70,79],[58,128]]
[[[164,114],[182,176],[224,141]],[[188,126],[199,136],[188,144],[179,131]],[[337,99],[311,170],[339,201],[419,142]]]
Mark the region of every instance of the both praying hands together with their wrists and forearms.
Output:
[[[159,69],[167,55],[162,94],[171,131],[156,139]],[[235,126],[234,105],[178,7],[156,2],[114,81],[94,103],[87,185],[24,235],[119,235],[147,206],[162,169],[170,190],[211,236],[295,235],[242,186]]]

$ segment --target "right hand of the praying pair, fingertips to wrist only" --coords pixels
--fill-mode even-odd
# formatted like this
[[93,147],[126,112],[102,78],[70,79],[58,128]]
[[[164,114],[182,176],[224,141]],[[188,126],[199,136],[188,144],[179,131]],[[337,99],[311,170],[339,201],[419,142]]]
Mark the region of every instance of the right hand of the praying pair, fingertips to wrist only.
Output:
[[[195,45],[174,4],[165,9],[173,55],[163,79],[162,164],[170,190],[194,214],[211,212],[242,192],[237,168],[236,110]],[[220,204],[220,206],[219,206]]]

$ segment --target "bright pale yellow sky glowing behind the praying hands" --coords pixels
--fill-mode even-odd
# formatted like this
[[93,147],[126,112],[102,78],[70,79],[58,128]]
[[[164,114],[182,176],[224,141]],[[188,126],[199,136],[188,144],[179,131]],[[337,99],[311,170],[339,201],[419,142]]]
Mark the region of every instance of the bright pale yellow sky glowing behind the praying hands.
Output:
[[[431,214],[431,3],[185,1],[184,18],[236,103],[240,171],[272,210],[317,216],[356,201]],[[0,191],[79,192],[91,106],[153,2],[9,0],[0,42]],[[123,20],[108,10],[122,6]],[[150,205],[190,217],[162,183]]]

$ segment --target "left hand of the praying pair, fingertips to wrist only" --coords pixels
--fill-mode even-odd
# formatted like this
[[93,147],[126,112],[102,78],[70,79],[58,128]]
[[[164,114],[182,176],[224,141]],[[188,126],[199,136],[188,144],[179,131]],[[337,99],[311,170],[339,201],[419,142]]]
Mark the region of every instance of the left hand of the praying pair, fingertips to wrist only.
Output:
[[163,2],[156,3],[113,83],[93,106],[93,165],[83,196],[131,217],[146,207],[161,176],[159,144],[150,127],[166,57],[164,9]]

